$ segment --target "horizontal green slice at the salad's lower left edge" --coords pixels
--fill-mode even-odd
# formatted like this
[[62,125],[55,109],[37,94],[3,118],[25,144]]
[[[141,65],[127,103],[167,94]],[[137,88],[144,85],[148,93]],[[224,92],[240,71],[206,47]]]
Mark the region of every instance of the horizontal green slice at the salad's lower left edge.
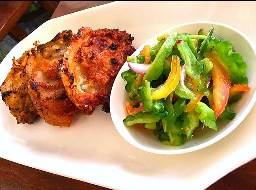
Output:
[[160,120],[159,117],[149,113],[148,111],[139,111],[134,115],[126,116],[123,120],[124,126],[131,127],[137,123],[156,123]]

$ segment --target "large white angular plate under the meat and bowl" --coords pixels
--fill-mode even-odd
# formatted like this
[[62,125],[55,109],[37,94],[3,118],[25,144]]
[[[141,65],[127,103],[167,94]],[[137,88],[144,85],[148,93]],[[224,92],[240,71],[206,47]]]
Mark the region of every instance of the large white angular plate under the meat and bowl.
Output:
[[[52,19],[17,44],[0,65],[0,81],[36,40],[52,39],[65,29],[81,26],[119,28],[135,37],[139,47],[174,25],[191,21],[229,24],[256,42],[256,2],[126,1],[90,8]],[[0,101],[0,157],[26,166],[112,189],[205,189],[225,174],[256,157],[256,107],[219,142],[182,155],[156,155],[130,145],[116,131],[110,114],[98,108],[90,116],[76,115],[70,128],[16,125]]]

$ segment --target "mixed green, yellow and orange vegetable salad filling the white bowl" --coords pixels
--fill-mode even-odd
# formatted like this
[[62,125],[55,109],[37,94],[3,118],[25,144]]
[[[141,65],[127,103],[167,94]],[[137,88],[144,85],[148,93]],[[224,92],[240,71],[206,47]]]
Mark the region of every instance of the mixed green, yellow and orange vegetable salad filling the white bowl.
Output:
[[234,119],[230,105],[249,91],[247,65],[213,32],[165,34],[127,57],[130,69],[121,74],[129,96],[126,127],[143,123],[159,141],[180,146],[198,126],[217,130],[218,118]]

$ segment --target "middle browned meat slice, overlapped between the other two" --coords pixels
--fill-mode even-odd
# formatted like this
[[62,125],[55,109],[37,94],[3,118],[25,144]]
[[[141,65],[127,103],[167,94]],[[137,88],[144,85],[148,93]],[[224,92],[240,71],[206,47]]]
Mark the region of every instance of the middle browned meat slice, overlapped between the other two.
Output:
[[28,59],[28,92],[39,115],[49,125],[70,126],[73,114],[79,111],[58,82],[63,54],[72,35],[71,30],[58,33],[53,40],[38,45]]

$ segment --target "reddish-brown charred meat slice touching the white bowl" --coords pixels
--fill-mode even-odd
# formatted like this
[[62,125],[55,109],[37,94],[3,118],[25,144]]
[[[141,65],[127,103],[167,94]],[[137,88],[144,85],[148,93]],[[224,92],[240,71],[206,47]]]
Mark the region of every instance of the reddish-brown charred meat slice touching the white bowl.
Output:
[[80,28],[63,57],[62,81],[69,98],[85,112],[102,105],[109,112],[118,71],[135,48],[134,38],[119,29]]

